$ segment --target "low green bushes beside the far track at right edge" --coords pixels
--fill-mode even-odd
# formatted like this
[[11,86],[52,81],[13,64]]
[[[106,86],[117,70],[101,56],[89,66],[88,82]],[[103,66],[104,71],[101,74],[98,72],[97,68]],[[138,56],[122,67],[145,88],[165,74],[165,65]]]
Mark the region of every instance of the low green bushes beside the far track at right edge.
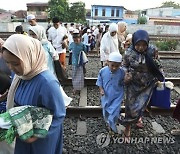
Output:
[[176,50],[178,41],[176,40],[166,40],[166,41],[157,41],[156,46],[160,51],[173,51]]

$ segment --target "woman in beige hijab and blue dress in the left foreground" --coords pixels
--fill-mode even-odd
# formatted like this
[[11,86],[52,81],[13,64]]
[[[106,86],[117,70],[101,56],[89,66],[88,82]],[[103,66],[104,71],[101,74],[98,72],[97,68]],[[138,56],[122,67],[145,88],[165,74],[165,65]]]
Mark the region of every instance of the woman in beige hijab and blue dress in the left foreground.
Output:
[[[7,98],[7,108],[31,105],[44,107],[53,115],[45,138],[16,138],[15,154],[61,154],[64,100],[56,77],[47,70],[41,43],[22,34],[11,35],[3,45],[3,58],[15,73]],[[28,126],[26,125],[28,129]],[[22,129],[25,127],[22,126]]]

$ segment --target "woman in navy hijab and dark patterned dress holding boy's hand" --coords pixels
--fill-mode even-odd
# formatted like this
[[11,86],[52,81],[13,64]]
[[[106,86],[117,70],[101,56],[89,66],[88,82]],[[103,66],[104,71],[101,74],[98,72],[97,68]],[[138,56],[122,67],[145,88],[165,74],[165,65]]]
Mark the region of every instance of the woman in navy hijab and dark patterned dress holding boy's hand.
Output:
[[149,45],[149,35],[144,30],[133,34],[132,45],[125,53],[123,66],[129,82],[126,85],[125,135],[130,136],[130,126],[137,122],[142,128],[141,116],[148,105],[157,81],[163,81],[157,50]]

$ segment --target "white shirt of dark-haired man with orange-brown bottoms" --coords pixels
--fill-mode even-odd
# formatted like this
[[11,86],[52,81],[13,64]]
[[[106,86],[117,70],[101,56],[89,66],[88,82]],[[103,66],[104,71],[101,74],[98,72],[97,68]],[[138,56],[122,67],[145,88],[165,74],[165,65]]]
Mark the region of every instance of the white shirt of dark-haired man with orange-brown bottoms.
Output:
[[57,29],[51,27],[48,30],[48,40],[52,41],[52,45],[58,53],[66,53],[66,48],[62,49],[62,39],[65,35],[67,35],[67,30],[62,26],[59,26]]

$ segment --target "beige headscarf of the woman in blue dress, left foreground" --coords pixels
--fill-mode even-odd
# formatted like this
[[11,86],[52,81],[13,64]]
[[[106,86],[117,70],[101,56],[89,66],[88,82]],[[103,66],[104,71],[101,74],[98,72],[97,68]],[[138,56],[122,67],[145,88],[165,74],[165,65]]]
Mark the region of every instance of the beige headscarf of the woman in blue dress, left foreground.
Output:
[[9,52],[22,61],[23,75],[15,75],[8,92],[7,108],[14,106],[14,95],[21,79],[30,80],[47,70],[45,52],[37,39],[22,34],[11,35],[3,44]]

